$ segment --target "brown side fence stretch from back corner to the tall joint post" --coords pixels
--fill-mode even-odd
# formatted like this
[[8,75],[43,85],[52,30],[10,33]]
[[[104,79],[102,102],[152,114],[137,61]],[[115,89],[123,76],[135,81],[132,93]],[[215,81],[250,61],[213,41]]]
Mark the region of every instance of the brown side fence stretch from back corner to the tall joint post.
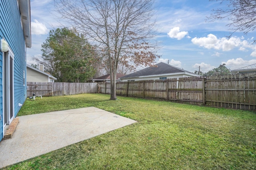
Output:
[[[204,98],[204,78],[173,78],[166,80],[144,80],[117,82],[116,94],[121,96],[150,98],[158,100],[181,101],[202,104]],[[100,92],[110,94],[110,84],[99,84]]]

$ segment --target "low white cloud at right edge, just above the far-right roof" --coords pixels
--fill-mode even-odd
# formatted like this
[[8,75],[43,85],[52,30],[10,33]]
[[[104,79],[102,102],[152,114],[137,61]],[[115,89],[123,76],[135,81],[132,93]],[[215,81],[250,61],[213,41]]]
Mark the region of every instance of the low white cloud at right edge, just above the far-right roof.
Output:
[[230,59],[226,62],[222,62],[222,64],[226,64],[225,66],[227,68],[230,68],[231,70],[235,70],[238,68],[242,68],[251,64],[255,64],[256,59],[253,60],[244,60],[242,58],[237,58],[237,59]]

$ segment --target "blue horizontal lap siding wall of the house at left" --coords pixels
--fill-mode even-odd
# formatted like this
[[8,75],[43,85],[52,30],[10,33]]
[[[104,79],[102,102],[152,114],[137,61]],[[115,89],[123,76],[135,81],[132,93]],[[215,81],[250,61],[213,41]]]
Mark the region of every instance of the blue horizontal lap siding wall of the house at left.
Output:
[[[0,2],[0,39],[4,38],[14,53],[14,117],[26,100],[26,42],[17,0]],[[25,73],[25,83],[24,83]],[[3,53],[0,52],[0,141],[3,137]]]

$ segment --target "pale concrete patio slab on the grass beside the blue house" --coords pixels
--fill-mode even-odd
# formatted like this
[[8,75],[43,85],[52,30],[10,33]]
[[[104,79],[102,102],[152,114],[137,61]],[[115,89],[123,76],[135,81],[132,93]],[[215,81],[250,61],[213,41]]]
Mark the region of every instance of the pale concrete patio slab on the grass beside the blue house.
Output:
[[96,107],[20,116],[12,138],[0,142],[0,168],[135,122]]

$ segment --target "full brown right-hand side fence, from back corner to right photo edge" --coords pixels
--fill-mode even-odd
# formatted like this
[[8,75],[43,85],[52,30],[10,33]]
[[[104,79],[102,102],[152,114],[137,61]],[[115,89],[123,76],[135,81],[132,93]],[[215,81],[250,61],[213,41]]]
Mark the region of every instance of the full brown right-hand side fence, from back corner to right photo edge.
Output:
[[[110,94],[109,83],[99,88]],[[121,96],[250,110],[256,109],[255,92],[256,73],[116,83]]]

